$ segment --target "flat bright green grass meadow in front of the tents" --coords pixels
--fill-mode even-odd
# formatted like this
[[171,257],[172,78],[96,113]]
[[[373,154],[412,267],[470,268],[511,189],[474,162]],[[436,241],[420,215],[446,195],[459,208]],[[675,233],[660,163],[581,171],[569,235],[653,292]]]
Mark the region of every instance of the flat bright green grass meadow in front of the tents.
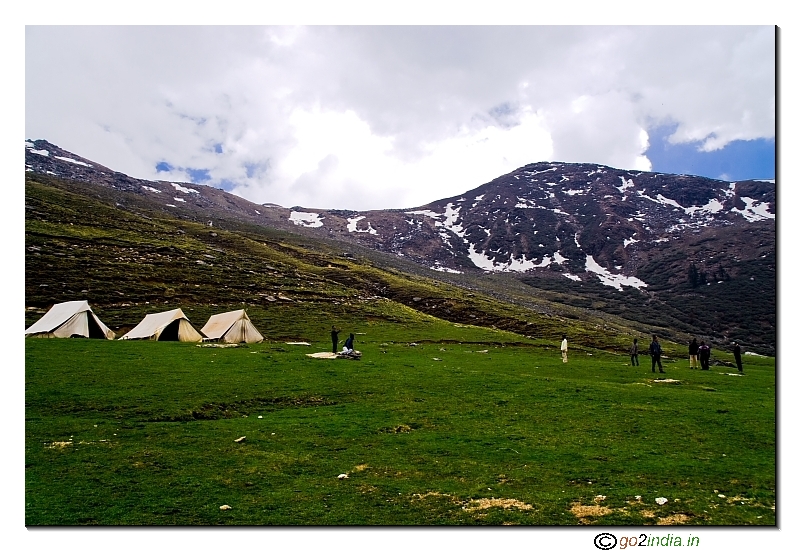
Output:
[[26,340],[26,524],[776,524],[774,358],[652,375],[415,315],[342,324],[361,361],[306,356],[329,319],[310,346]]

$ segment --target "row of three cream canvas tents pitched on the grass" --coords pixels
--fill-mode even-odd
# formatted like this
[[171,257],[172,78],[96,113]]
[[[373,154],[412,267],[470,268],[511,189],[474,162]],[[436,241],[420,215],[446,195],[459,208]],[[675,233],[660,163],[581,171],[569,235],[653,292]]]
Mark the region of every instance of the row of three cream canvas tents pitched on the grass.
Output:
[[[86,300],[79,300],[54,305],[25,331],[25,336],[40,338],[83,336],[112,340],[115,335],[98,319]],[[257,344],[264,340],[264,337],[256,330],[243,309],[212,315],[205,326],[197,331],[179,308],[145,315],[138,325],[120,338],[120,340],[181,342],[200,342],[203,339],[231,344],[240,342]]]

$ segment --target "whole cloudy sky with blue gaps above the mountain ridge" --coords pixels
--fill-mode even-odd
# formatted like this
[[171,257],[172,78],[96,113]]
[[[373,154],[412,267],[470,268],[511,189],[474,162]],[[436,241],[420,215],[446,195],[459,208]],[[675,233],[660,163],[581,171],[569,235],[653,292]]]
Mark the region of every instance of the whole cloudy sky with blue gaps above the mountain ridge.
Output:
[[410,208],[525,164],[775,178],[775,28],[25,28],[25,137],[256,203]]

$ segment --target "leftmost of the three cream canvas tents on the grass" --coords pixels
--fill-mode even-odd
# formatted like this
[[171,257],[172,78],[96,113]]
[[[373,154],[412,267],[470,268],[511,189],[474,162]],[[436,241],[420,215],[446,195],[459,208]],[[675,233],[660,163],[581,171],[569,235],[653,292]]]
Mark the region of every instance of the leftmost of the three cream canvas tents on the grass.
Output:
[[25,336],[39,338],[83,336],[84,338],[114,339],[114,333],[97,318],[86,300],[54,305],[50,311],[25,331]]

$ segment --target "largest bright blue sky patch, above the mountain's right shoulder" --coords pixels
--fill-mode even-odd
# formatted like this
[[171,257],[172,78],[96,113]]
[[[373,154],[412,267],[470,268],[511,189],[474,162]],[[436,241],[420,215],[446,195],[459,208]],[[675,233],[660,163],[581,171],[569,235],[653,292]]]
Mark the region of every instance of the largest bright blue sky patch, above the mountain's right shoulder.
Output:
[[737,140],[717,151],[703,152],[699,142],[671,144],[667,138],[676,124],[658,126],[648,133],[645,153],[654,172],[691,174],[726,181],[775,179],[775,140]]

